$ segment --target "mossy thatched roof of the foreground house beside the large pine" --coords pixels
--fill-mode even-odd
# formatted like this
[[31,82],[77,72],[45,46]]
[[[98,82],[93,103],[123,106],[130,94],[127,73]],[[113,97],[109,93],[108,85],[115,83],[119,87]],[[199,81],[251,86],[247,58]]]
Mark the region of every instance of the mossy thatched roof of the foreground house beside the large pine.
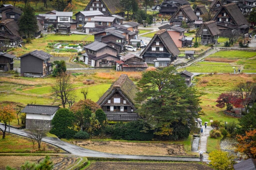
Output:
[[139,92],[137,86],[129,79],[127,74],[121,74],[120,77],[110,86],[110,88],[102,95],[102,97],[97,101],[100,106],[108,101],[108,99],[118,91],[120,95],[126,100],[127,103],[135,109],[136,93]]

